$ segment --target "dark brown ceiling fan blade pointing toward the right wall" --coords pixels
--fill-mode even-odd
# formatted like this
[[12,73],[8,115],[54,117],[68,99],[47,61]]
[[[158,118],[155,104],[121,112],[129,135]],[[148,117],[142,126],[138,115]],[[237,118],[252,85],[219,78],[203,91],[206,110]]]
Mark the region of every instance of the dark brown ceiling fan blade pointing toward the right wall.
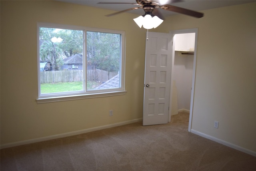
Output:
[[172,11],[172,12],[178,12],[178,13],[185,14],[185,15],[188,15],[188,16],[193,16],[193,17],[196,17],[196,18],[201,18],[201,17],[204,16],[204,13],[193,11],[193,10],[188,10],[188,9],[185,9],[185,8],[180,8],[178,6],[163,5],[163,6],[160,6],[160,8],[162,8],[164,10],[169,10],[169,11]]

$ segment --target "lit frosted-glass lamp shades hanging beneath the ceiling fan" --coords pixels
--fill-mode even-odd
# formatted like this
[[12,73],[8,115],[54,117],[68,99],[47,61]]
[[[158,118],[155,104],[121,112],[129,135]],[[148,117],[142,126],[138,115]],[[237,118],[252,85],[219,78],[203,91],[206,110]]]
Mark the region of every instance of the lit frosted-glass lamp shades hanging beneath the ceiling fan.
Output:
[[145,29],[157,28],[164,21],[158,18],[158,16],[152,17],[150,14],[144,15],[144,17],[139,16],[133,20],[140,28],[143,26]]

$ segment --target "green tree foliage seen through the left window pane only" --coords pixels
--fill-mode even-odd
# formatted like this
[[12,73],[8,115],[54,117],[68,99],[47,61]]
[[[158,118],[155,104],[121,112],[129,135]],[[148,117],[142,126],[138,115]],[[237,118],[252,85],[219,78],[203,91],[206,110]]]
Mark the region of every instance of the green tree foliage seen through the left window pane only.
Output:
[[51,62],[53,70],[58,70],[63,59],[82,54],[83,31],[57,28],[43,28],[39,30],[40,60]]

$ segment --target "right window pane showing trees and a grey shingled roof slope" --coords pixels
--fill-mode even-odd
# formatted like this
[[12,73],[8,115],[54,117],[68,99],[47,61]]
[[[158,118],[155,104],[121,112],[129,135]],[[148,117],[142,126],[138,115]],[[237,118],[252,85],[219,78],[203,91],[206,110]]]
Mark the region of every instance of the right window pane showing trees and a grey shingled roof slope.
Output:
[[120,88],[121,35],[86,32],[87,90]]

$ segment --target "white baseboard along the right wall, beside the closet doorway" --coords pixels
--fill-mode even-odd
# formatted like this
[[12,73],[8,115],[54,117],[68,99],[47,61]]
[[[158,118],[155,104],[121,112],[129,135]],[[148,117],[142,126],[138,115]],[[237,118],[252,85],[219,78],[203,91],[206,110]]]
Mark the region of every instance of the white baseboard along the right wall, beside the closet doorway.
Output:
[[227,141],[223,141],[222,139],[218,139],[218,138],[212,137],[212,136],[210,136],[210,135],[207,135],[207,134],[198,132],[198,131],[196,131],[196,130],[194,130],[194,129],[191,129],[191,133],[194,133],[194,134],[199,135],[199,136],[201,136],[201,137],[210,139],[210,140],[215,141],[215,142],[217,142],[217,143],[220,143],[220,144],[222,144],[222,145],[226,145],[226,146],[228,146],[228,147],[230,147],[230,148],[236,149],[236,150],[238,150],[238,151],[242,151],[242,152],[244,152],[244,153],[247,153],[247,154],[250,154],[250,155],[253,155],[253,156],[256,157],[256,152],[251,151],[251,150],[248,150],[248,149],[245,149],[245,148],[240,147],[240,146],[238,146],[238,145],[234,145],[234,144],[229,143],[229,142],[227,142]]

